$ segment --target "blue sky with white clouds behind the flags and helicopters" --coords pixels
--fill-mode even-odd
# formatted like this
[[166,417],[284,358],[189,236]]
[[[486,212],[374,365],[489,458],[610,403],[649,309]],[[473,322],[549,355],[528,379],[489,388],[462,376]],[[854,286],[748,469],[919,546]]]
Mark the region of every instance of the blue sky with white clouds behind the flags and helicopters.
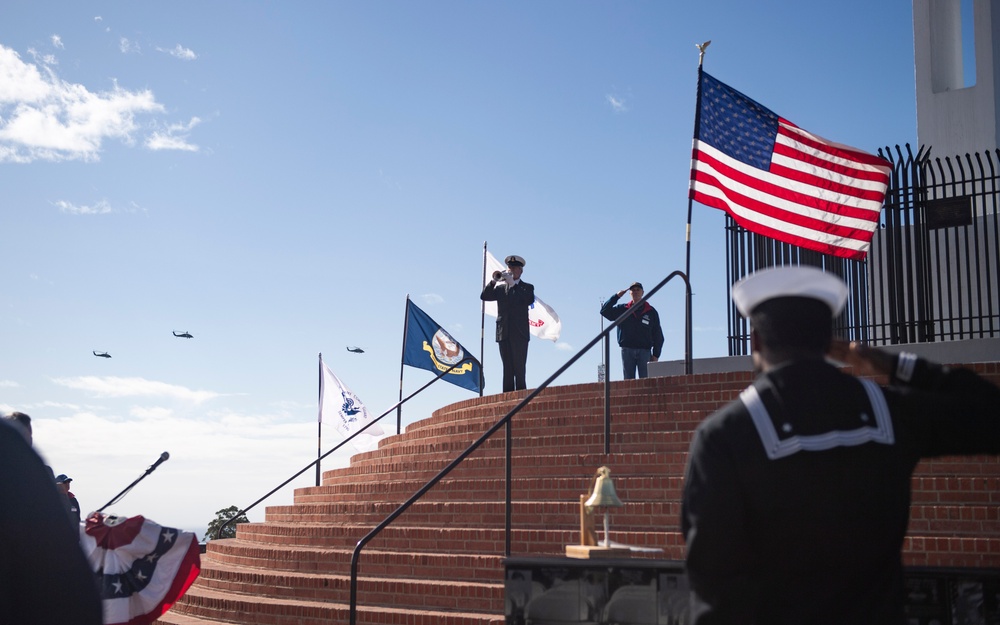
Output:
[[[372,412],[396,401],[407,295],[478,354],[484,241],[562,319],[529,350],[541,383],[602,298],[684,268],[709,39],[707,71],[811,132],[915,143],[906,0],[8,0],[0,410],[86,510],[169,451],[109,511],[200,535],[315,458],[318,353]],[[695,358],[726,355],[722,225],[695,205]],[[652,303],[681,359],[681,286]],[[437,384],[404,422],[471,396]]]

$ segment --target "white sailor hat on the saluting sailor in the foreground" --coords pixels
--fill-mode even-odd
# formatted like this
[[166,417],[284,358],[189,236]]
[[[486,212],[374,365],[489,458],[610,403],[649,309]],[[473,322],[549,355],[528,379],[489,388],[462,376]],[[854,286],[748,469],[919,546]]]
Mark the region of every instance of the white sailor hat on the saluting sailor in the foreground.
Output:
[[830,307],[836,316],[847,301],[847,285],[817,267],[771,267],[754,272],[733,285],[733,303],[744,317],[762,302],[776,297],[809,297]]

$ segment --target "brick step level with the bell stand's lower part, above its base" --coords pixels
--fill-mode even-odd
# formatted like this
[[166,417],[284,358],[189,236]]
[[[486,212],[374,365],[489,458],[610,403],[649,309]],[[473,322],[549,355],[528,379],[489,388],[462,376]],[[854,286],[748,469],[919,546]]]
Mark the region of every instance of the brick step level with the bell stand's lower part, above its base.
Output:
[[[601,522],[595,524],[599,534],[603,536]],[[651,530],[648,527],[640,530],[628,530],[611,524],[612,540],[624,542],[635,547],[659,547],[677,545],[680,535],[676,531],[677,524],[664,526],[662,530]],[[241,523],[237,529],[237,538],[245,544],[274,547],[315,547],[322,549],[353,550],[358,541],[368,534],[374,526],[368,525],[325,525],[302,523]],[[555,546],[575,544],[579,542],[579,523],[574,525],[558,525],[544,530],[527,530],[513,528],[511,544],[524,545],[546,544]],[[403,528],[389,525],[372,540],[369,545],[379,551],[423,551],[448,553],[501,553],[505,548],[504,528],[441,528],[418,527]],[[211,543],[210,543],[211,544]]]

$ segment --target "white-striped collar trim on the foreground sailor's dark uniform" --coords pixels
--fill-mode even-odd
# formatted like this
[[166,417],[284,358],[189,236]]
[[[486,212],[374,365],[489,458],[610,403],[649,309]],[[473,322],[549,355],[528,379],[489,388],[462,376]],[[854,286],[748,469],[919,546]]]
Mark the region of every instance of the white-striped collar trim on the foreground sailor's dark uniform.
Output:
[[760,442],[764,445],[764,451],[771,460],[791,456],[800,451],[826,451],[834,447],[853,447],[864,443],[892,445],[895,436],[892,420],[889,417],[889,406],[885,403],[882,389],[871,380],[859,379],[859,381],[864,386],[872,412],[875,413],[875,425],[861,426],[854,430],[832,430],[825,434],[790,436],[781,439],[756,388],[748,386],[740,393],[740,400],[750,413],[750,418],[753,419],[754,427],[760,436]]

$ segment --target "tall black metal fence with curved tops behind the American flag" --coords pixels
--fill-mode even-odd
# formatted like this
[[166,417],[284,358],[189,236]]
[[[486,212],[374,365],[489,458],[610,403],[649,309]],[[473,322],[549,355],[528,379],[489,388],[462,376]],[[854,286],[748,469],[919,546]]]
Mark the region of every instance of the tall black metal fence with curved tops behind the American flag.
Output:
[[[899,146],[865,261],[753,234],[726,218],[726,288],[773,265],[813,265],[850,288],[838,336],[875,345],[1000,337],[1000,150],[930,158]],[[750,353],[749,322],[729,309],[729,354]]]

